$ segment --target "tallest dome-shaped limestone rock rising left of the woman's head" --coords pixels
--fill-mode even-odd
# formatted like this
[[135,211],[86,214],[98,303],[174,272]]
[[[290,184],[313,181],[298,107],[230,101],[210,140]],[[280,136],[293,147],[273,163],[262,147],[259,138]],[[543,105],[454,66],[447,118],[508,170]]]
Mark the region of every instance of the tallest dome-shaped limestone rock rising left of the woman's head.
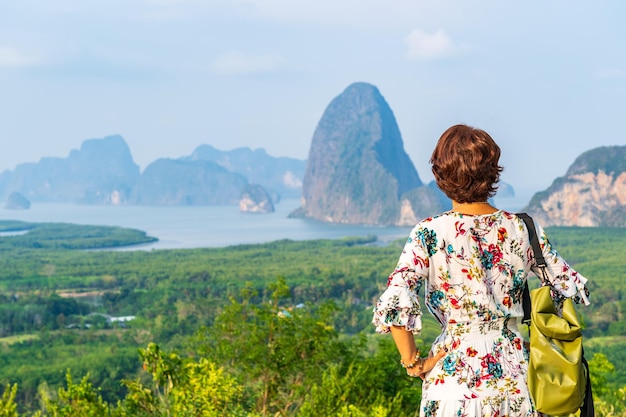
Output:
[[422,184],[378,89],[354,83],[331,101],[315,129],[302,206],[291,216],[409,225],[442,204],[441,193]]

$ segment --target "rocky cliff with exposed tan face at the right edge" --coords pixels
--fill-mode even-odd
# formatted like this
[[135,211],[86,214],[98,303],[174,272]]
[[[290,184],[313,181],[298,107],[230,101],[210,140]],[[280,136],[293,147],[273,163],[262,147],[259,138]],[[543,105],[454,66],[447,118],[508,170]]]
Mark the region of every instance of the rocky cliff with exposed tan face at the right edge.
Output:
[[626,146],[583,153],[524,211],[544,226],[626,227]]

